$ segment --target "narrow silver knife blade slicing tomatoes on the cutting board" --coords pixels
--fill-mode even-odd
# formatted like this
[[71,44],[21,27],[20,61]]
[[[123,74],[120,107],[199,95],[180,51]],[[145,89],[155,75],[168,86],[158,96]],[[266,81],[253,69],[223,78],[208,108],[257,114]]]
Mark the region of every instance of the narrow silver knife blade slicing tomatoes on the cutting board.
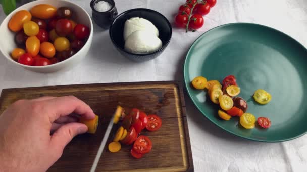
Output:
[[96,170],[96,168],[97,168],[97,164],[98,164],[98,162],[99,162],[99,159],[100,159],[100,157],[101,157],[101,154],[103,154],[103,150],[104,150],[104,148],[105,148],[105,146],[106,146],[106,143],[107,143],[107,141],[108,141],[109,135],[110,135],[111,130],[112,130],[112,127],[113,127],[113,125],[114,125],[114,117],[115,117],[115,116],[116,116],[116,113],[114,113],[113,116],[112,116],[112,118],[111,118],[111,121],[110,121],[110,123],[109,123],[109,125],[108,125],[107,131],[106,131],[106,133],[105,133],[105,135],[104,135],[104,138],[103,138],[103,141],[101,141],[101,144],[100,144],[100,146],[99,146],[98,152],[97,152],[97,154],[96,154],[96,157],[95,157],[95,160],[94,160],[94,162],[93,162],[93,165],[92,165],[92,167],[91,167],[91,169],[90,169],[90,172],[95,172],[95,170]]

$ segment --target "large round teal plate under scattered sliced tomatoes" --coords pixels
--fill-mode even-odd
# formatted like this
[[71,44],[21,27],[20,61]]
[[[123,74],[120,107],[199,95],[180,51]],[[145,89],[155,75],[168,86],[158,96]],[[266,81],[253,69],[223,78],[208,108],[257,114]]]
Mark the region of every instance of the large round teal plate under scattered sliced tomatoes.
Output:
[[[205,91],[190,86],[196,76],[219,80],[234,75],[241,88],[240,97],[248,103],[247,112],[269,117],[272,126],[244,129],[239,118],[229,121],[218,116]],[[202,34],[191,46],[184,63],[187,92],[196,107],[222,129],[255,141],[280,142],[307,132],[307,49],[290,36],[258,24],[233,23]],[[264,89],[272,100],[256,103],[252,95]]]

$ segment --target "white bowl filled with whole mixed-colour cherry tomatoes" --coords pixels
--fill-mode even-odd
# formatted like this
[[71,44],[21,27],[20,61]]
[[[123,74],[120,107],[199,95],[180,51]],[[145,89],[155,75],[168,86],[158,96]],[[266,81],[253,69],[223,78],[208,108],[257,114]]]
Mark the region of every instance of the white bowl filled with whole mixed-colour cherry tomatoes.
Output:
[[[85,45],[82,47],[82,49],[80,49],[75,55],[73,55],[72,57],[62,62],[53,64],[53,65],[48,65],[48,66],[27,66],[27,65],[20,64],[11,58],[10,54],[12,50],[14,48],[17,48],[17,45],[14,41],[14,37],[16,33],[9,30],[8,23],[16,12],[20,10],[30,10],[33,6],[38,5],[38,4],[49,4],[56,8],[59,8],[62,6],[69,7],[74,12],[73,20],[76,21],[77,23],[84,24],[89,27],[90,29],[89,38],[86,41]],[[3,56],[7,58],[10,62],[14,63],[16,66],[21,66],[27,70],[31,70],[34,72],[49,73],[49,72],[55,72],[55,71],[58,71],[64,68],[73,67],[77,65],[83,58],[85,58],[90,48],[90,45],[92,43],[93,23],[88,13],[77,4],[74,4],[69,1],[64,1],[64,0],[37,0],[37,1],[27,3],[17,8],[4,19],[4,21],[0,25],[0,38],[1,38],[0,39],[0,51],[3,54]]]

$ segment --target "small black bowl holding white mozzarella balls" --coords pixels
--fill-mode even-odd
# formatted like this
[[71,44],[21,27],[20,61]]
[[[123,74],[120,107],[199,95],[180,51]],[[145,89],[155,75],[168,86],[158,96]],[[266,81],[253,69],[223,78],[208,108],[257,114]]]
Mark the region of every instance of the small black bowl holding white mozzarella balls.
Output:
[[[126,20],[132,17],[141,17],[149,20],[159,30],[162,47],[155,52],[135,54],[125,50],[124,26]],[[117,50],[132,61],[143,62],[158,57],[169,44],[172,37],[172,26],[161,13],[150,9],[131,9],[118,15],[112,22],[109,30],[110,38]]]

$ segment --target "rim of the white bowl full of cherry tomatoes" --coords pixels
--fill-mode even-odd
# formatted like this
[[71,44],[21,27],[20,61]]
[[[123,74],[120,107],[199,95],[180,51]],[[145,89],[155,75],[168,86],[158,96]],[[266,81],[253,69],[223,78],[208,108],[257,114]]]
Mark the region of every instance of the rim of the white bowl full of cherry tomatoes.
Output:
[[[22,6],[18,7],[18,8],[16,8],[14,11],[12,11],[9,15],[7,15],[7,17],[4,18],[4,20],[6,20],[7,18],[12,18],[12,16],[13,16],[16,12],[18,12],[18,11],[20,11],[20,10],[23,10],[24,6],[26,6],[26,5],[29,6],[29,5],[31,5],[31,4],[37,4],[37,2],[40,2],[40,1],[46,1],[46,0],[36,0],[36,1],[33,1],[33,2],[26,3],[26,4],[24,4],[24,5],[22,5]],[[93,22],[92,22],[92,20],[91,20],[91,17],[89,16],[89,14],[86,12],[86,10],[85,10],[83,7],[79,6],[79,5],[76,4],[76,3],[73,3],[73,2],[71,2],[71,1],[53,0],[53,2],[56,2],[56,1],[58,1],[58,2],[67,2],[67,3],[69,3],[69,4],[72,4],[72,5],[74,5],[74,6],[77,6],[77,7],[79,7],[79,8],[87,15],[87,17],[88,17],[88,19],[89,19],[89,21],[90,21],[90,34],[89,34],[89,38],[88,38],[88,40],[89,40],[90,37],[93,36]],[[45,4],[46,4],[46,3],[45,3]],[[51,5],[51,4],[50,4],[50,5]],[[3,20],[3,21],[4,21],[4,20]],[[2,22],[1,25],[4,25],[4,22]],[[1,26],[1,25],[0,25],[0,26]],[[3,54],[3,56],[4,56],[5,58],[7,58],[9,61],[11,61],[12,63],[17,64],[17,65],[19,65],[19,66],[22,66],[22,67],[32,68],[32,69],[53,68],[53,67],[62,65],[62,64],[64,64],[64,63],[67,63],[68,61],[71,61],[72,58],[76,57],[76,55],[78,55],[78,53],[79,53],[86,45],[90,44],[88,40],[86,41],[86,43],[84,44],[84,46],[83,46],[76,54],[74,54],[74,55],[71,56],[70,58],[68,58],[68,59],[66,59],[66,60],[63,60],[63,61],[61,61],[61,62],[55,63],[55,64],[46,65],[46,66],[29,66],[29,65],[24,65],[24,64],[18,63],[17,61],[13,60],[13,59],[10,57],[10,55],[9,55],[9,57],[7,57],[7,55],[5,55],[6,53],[3,52],[2,48],[0,48],[0,52],[1,52],[1,53]],[[49,59],[49,58],[48,58],[48,59]]]

